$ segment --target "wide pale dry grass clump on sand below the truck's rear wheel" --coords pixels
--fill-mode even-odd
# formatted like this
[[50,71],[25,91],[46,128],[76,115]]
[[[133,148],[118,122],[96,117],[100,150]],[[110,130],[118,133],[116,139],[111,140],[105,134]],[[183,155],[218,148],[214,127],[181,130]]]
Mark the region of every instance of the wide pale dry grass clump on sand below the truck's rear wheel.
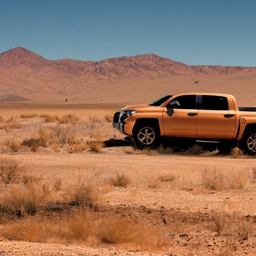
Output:
[[217,170],[205,168],[202,171],[203,187],[207,189],[243,189],[248,183],[248,172],[232,171],[223,173]]

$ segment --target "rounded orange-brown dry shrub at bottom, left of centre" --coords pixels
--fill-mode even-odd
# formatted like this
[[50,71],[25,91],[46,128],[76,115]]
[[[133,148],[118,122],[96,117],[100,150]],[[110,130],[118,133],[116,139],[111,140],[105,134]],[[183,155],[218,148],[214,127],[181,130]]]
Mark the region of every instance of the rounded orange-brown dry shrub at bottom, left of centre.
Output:
[[95,229],[92,215],[89,212],[75,214],[68,222],[68,228],[72,238],[78,241],[86,241],[93,233],[93,228]]

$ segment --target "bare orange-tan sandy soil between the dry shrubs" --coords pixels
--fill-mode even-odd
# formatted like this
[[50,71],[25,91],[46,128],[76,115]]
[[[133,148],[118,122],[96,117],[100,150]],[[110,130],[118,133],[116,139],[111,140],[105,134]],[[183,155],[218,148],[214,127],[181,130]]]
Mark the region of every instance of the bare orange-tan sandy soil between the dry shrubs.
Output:
[[[119,106],[52,106],[23,105],[1,103],[1,115],[19,116],[24,113],[75,113],[83,120],[94,113],[101,122],[93,129],[101,131],[103,138],[113,134],[123,137],[105,123],[103,116],[112,114]],[[42,118],[21,119],[19,129],[0,130],[1,143],[6,138],[22,140],[31,136],[37,127],[55,125],[45,123]],[[83,125],[83,126],[79,126]],[[85,124],[77,124],[77,136],[89,137],[91,130]],[[90,210],[100,220],[105,216],[127,217],[134,223],[150,228],[153,240],[149,238],[146,247],[133,243],[107,244],[96,238],[86,242],[47,243],[9,240],[4,235],[6,223],[0,224],[0,255],[255,255],[256,253],[256,203],[252,168],[255,158],[234,158],[232,155],[204,154],[200,156],[162,154],[154,150],[137,151],[129,147],[103,148],[100,153],[88,151],[70,153],[69,146],[60,147],[55,152],[50,146],[40,147],[36,152],[22,149],[13,152],[4,149],[2,155],[11,157],[24,167],[29,175],[42,175],[44,180],[57,176],[62,179],[61,191],[51,197],[51,203],[64,202],[61,192],[77,177],[92,177],[97,173],[98,199]],[[241,188],[222,187],[206,189],[203,184],[203,172],[218,170],[238,179],[247,177]],[[129,177],[127,187],[111,186],[107,182],[111,177],[122,173]],[[172,175],[173,179],[163,181],[161,177]],[[7,185],[0,186],[1,193],[8,191]],[[34,216],[52,223],[70,218],[76,206],[49,208],[49,202]],[[45,210],[46,209],[46,210]],[[87,209],[85,209],[87,210]],[[217,231],[220,214],[225,219],[221,231]],[[214,220],[215,219],[215,220]],[[155,230],[155,231],[154,231]],[[164,246],[151,246],[160,239]]]

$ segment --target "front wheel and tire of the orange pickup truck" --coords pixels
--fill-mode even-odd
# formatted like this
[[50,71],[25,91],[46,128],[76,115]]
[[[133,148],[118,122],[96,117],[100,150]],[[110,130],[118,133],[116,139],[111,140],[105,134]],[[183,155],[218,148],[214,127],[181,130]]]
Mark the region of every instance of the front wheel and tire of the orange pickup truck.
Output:
[[133,131],[133,138],[138,148],[155,146],[159,141],[158,129],[150,123],[138,123]]

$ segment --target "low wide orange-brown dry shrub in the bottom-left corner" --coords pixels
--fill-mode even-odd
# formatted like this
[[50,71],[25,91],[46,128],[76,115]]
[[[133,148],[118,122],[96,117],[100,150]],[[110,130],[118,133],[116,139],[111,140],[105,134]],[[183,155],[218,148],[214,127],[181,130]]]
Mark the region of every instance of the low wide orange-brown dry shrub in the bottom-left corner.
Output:
[[50,238],[61,237],[61,227],[31,218],[5,225],[4,235],[10,240],[47,242]]

